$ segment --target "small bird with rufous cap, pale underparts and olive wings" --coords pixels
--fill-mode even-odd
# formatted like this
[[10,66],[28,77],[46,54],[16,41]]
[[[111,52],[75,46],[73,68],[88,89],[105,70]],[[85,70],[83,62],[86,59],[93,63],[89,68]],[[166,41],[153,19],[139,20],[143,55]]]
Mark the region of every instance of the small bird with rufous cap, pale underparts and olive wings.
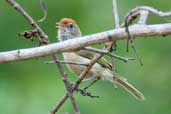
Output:
[[[72,38],[77,38],[82,36],[81,31],[73,19],[63,18],[57,23],[58,28],[58,38],[60,42],[69,40]],[[76,63],[89,63],[96,53],[86,50],[80,50],[75,52],[65,52],[63,57],[65,61],[72,61]],[[67,64],[67,67],[79,76],[82,71],[85,70],[86,66]],[[113,75],[112,65],[105,59],[101,58],[94,64],[90,71],[86,75],[86,79],[92,79],[93,77],[98,77],[100,79],[109,80],[110,82],[117,83],[125,90],[127,90],[131,95],[139,100],[144,100],[143,94],[129,84],[125,78],[116,74]]]

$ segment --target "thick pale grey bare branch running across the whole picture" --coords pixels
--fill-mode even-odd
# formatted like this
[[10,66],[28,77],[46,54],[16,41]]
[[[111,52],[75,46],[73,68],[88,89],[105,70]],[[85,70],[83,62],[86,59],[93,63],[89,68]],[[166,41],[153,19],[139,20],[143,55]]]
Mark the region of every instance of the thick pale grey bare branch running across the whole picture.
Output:
[[[166,36],[171,35],[171,23],[156,25],[133,25],[129,27],[129,31],[131,36],[135,38]],[[119,28],[83,36],[77,39],[70,39],[59,43],[49,44],[46,46],[0,52],[0,63],[22,61],[44,57],[55,53],[79,50],[94,44],[124,40],[127,39],[127,37],[128,36],[125,32],[125,28]]]

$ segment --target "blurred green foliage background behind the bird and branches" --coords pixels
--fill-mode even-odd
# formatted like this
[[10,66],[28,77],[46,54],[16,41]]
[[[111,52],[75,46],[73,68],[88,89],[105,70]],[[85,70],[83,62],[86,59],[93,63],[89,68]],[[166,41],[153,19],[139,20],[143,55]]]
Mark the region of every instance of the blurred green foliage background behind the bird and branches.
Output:
[[[43,13],[39,0],[16,0],[35,20]],[[48,17],[39,25],[52,42],[56,42],[55,23],[63,17],[74,18],[84,35],[113,29],[112,0],[45,0]],[[118,0],[121,22],[132,8],[149,5],[162,11],[170,11],[170,0]],[[148,24],[166,23],[150,15]],[[0,51],[35,47],[17,34],[31,29],[23,17],[5,0],[0,1]],[[126,52],[126,41],[119,41],[115,53],[133,56]],[[144,66],[137,61],[124,63],[115,60],[117,71],[144,93],[146,100],[137,101],[122,88],[114,89],[111,83],[99,81],[89,91],[99,95],[98,99],[83,97],[75,93],[81,114],[169,114],[171,113],[171,38],[140,38],[136,40],[138,53]],[[2,114],[48,114],[55,103],[64,95],[65,87],[55,65],[46,65],[50,57],[13,62],[0,65],[0,111]],[[110,60],[110,59],[109,59]],[[66,68],[66,67],[65,67]],[[76,80],[66,69],[70,80]],[[81,86],[88,84],[83,83]],[[68,100],[58,114],[73,113]]]

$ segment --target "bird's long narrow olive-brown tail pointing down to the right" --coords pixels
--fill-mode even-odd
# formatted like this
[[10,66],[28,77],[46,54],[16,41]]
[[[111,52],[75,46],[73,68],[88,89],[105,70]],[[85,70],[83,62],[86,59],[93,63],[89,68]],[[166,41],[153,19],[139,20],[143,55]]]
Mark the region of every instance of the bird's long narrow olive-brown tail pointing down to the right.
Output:
[[123,87],[131,95],[133,95],[138,100],[145,100],[144,95],[137,90],[133,85],[127,82],[127,80],[119,75],[113,77],[113,82],[116,82],[118,85]]

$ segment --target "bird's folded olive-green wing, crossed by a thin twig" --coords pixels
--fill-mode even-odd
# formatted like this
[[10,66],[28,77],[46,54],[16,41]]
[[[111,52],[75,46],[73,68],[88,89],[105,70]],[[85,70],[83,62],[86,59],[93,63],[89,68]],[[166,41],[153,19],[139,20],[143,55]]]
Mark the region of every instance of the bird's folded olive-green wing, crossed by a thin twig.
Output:
[[[75,52],[77,55],[88,58],[88,59],[93,59],[93,57],[95,56],[95,52],[91,52],[88,50],[79,50],[77,52]],[[109,63],[109,61],[107,61],[104,57],[100,58],[97,63],[99,63],[100,65],[102,65],[105,68],[108,68],[110,70],[112,70],[112,64]]]

